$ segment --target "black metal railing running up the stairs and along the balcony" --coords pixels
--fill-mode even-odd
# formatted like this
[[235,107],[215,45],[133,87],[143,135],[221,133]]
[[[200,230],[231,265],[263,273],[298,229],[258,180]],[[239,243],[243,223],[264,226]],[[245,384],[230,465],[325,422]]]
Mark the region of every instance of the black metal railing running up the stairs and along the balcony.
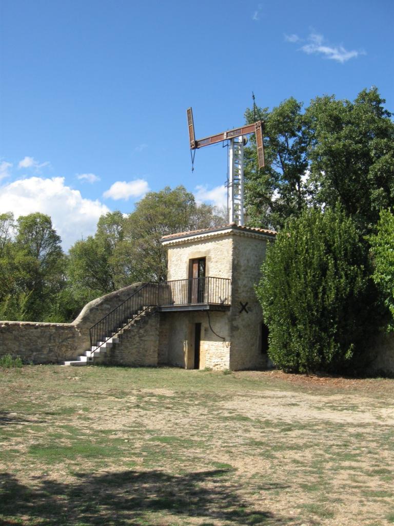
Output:
[[121,337],[134,318],[147,309],[204,304],[231,305],[231,279],[204,277],[146,283],[90,328],[91,349],[114,335]]

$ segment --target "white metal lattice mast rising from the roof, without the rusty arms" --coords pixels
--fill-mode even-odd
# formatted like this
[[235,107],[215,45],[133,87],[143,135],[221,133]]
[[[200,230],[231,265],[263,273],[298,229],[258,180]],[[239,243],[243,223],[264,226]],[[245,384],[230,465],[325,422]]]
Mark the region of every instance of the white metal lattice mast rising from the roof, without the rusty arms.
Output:
[[229,140],[229,178],[227,180],[229,222],[244,224],[244,142],[242,135]]

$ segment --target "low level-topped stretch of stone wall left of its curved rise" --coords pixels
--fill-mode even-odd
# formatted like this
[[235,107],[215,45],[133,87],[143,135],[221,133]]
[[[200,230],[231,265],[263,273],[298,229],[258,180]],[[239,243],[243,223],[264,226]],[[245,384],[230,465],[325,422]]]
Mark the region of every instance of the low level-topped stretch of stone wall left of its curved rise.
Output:
[[25,363],[73,360],[81,335],[71,323],[0,321],[0,356],[19,356]]

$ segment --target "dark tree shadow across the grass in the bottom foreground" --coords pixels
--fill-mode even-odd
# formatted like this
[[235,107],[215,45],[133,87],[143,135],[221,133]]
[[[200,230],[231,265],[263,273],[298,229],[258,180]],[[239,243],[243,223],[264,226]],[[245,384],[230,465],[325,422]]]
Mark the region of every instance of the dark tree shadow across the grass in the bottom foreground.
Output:
[[[31,487],[4,473],[0,476],[0,516],[8,522],[0,519],[0,524],[20,524],[20,518],[29,517],[29,523],[40,526],[141,526],[149,524],[152,512],[162,526],[174,524],[177,517],[200,519],[201,526],[214,526],[214,521],[234,526],[287,524],[289,518],[252,508],[243,500],[237,494],[239,488],[229,480],[231,471],[181,476],[157,470],[80,473],[79,480],[69,484],[36,477]],[[285,488],[267,484],[265,490]]]

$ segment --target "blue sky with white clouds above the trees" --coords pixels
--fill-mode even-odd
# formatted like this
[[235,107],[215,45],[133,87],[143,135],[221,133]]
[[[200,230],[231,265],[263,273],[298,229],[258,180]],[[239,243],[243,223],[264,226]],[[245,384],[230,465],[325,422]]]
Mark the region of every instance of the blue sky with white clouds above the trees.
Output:
[[220,203],[226,149],[196,136],[256,102],[354,99],[394,110],[392,0],[1,0],[0,213],[51,215],[65,248],[100,214],[184,185]]

